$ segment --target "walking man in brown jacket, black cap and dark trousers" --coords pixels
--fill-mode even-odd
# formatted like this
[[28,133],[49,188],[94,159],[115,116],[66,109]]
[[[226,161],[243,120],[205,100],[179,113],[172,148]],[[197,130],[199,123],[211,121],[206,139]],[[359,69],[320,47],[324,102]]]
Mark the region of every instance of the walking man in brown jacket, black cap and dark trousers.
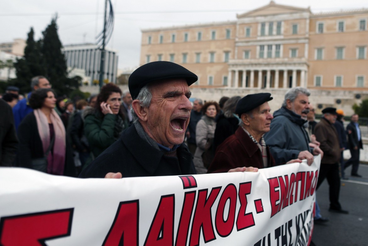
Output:
[[341,152],[337,131],[333,125],[337,118],[336,108],[325,108],[322,110],[322,113],[323,117],[321,121],[314,128],[314,134],[316,135],[317,141],[321,143],[320,148],[324,153],[319,169],[317,189],[323,180],[327,178],[330,186],[329,211],[347,214],[348,211],[343,210],[339,203],[339,160]]

